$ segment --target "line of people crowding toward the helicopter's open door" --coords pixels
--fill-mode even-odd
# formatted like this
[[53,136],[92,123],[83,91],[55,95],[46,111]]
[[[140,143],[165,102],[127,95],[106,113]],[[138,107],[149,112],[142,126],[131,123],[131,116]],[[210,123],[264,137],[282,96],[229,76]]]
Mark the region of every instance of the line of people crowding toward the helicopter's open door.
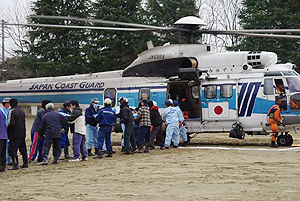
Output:
[[[123,131],[121,146],[123,154],[149,153],[158,145],[160,149],[169,149],[171,143],[177,148],[181,137],[184,145],[188,138],[184,126],[182,111],[178,101],[165,101],[166,109],[161,115],[155,101],[143,100],[138,107],[130,108],[126,97],[119,98],[120,112],[112,108],[112,100],[105,98],[103,107],[97,98],[83,113],[77,100],[66,101],[56,112],[50,100],[43,100],[31,128],[31,146],[29,154],[26,148],[25,113],[18,107],[15,98],[4,98],[0,108],[0,171],[6,165],[10,170],[28,168],[35,161],[47,165],[52,146],[53,161],[68,159],[70,162],[88,160],[88,157],[101,159],[112,157],[112,131],[116,122]],[[166,134],[162,131],[163,122]],[[73,156],[69,153],[72,134]],[[92,152],[94,149],[94,152]],[[21,153],[23,164],[19,166],[17,151]],[[64,153],[64,156],[62,154]],[[81,157],[80,157],[81,156]]]

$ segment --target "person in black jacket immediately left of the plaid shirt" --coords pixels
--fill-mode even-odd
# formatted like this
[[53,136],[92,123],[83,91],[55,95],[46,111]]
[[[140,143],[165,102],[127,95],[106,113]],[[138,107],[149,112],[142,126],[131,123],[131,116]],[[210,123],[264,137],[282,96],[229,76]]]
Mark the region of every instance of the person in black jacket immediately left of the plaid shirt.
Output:
[[136,150],[136,141],[134,139],[134,118],[133,114],[128,107],[128,102],[124,101],[125,98],[121,97],[120,102],[120,113],[117,117],[120,118],[120,123],[124,123],[125,132],[124,132],[124,153],[130,154]]

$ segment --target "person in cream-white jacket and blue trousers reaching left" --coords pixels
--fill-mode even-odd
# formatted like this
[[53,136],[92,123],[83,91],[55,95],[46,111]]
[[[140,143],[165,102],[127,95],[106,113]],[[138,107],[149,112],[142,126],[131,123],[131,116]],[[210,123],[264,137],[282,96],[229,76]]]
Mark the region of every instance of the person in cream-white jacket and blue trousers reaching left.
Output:
[[74,157],[70,162],[78,162],[81,154],[82,160],[87,160],[87,151],[85,147],[85,121],[82,114],[82,109],[79,106],[77,100],[71,101],[71,116],[68,117],[68,121],[71,126],[71,132],[73,133],[73,153]]

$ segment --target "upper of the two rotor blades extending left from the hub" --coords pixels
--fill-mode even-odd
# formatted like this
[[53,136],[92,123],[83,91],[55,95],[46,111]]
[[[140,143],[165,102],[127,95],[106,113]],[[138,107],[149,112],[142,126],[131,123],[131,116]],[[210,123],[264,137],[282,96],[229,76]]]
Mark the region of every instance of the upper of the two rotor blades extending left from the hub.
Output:
[[118,21],[92,19],[92,18],[77,18],[77,17],[70,17],[70,16],[32,15],[30,17],[40,18],[40,19],[60,19],[60,20],[74,20],[74,21],[83,21],[83,22],[95,22],[95,23],[101,23],[101,24],[122,25],[122,26],[146,28],[146,29],[153,29],[153,30],[174,30],[174,29],[176,29],[174,27],[159,27],[159,26],[137,24],[137,23],[127,23],[127,22],[118,22]]

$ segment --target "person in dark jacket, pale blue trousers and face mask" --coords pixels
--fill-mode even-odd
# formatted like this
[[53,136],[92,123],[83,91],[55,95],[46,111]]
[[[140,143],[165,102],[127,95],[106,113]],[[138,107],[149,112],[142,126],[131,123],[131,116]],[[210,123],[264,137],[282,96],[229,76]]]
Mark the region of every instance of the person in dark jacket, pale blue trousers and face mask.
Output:
[[[98,113],[99,101],[98,98],[93,98],[91,104],[85,110],[85,123],[86,123],[86,147],[88,156],[93,156],[92,148],[94,146],[95,154],[98,153],[98,126],[95,116]],[[102,148],[101,148],[102,150]]]

